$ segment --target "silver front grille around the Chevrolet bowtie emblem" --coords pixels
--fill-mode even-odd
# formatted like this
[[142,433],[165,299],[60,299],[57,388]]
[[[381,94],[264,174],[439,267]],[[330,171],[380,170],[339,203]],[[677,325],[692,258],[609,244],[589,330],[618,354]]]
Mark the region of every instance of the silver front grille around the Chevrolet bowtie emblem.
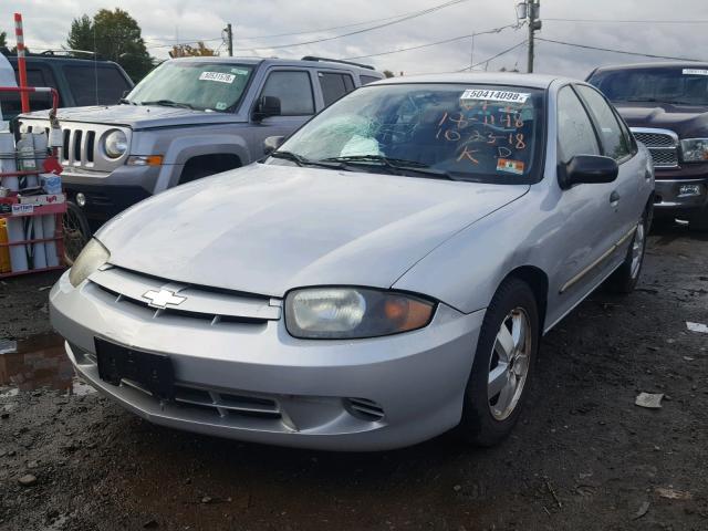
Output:
[[[129,306],[145,320],[179,317],[210,325],[266,324],[268,321],[278,321],[281,315],[281,302],[277,299],[170,282],[117,267],[96,271],[91,275],[91,282],[104,293],[106,303]],[[179,304],[157,306],[144,296],[162,290],[168,290],[184,300]]]

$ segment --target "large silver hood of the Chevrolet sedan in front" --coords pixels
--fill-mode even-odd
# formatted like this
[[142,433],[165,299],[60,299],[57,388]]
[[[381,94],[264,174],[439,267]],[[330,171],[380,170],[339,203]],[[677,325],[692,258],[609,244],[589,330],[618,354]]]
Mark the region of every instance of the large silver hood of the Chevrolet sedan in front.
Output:
[[170,281],[271,296],[315,284],[389,288],[528,189],[254,164],[147,199],[96,237],[111,263]]

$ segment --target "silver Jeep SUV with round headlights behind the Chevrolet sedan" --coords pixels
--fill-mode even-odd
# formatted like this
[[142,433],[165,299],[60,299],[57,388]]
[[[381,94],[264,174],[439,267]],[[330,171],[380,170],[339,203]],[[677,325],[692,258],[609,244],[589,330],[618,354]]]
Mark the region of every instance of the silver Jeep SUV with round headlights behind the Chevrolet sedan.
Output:
[[[289,135],[382,77],[371,66],[312,56],[166,61],[119,105],[60,111],[67,222],[87,238],[142,199],[257,160],[267,137]],[[20,119],[23,131],[49,127],[46,112]]]

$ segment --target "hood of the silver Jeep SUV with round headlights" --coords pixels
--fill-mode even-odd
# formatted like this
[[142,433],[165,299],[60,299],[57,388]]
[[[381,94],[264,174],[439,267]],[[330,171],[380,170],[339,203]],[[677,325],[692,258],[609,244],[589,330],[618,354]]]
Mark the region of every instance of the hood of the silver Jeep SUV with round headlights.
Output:
[[[49,118],[49,111],[39,111],[22,115],[27,118]],[[96,105],[91,107],[60,108],[59,122],[83,122],[104,125],[125,125],[134,129],[168,127],[170,125],[191,125],[238,122],[231,113],[191,111],[189,108],[160,105]]]

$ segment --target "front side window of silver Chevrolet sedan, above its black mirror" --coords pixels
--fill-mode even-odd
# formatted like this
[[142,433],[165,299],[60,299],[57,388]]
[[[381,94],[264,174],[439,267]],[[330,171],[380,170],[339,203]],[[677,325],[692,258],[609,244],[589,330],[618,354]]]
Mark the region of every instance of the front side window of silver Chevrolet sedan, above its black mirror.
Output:
[[558,147],[563,163],[575,155],[600,155],[590,116],[570,86],[558,93]]

